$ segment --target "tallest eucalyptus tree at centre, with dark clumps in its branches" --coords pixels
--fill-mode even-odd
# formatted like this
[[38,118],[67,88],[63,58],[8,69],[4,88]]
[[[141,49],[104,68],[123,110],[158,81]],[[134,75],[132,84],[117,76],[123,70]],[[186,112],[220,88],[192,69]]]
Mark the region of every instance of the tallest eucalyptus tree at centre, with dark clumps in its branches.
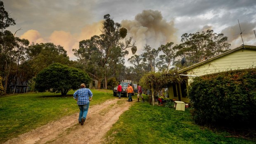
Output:
[[[98,70],[103,74],[103,76],[100,76],[100,74],[97,75],[97,78],[99,81],[105,79],[105,88],[107,88],[107,78],[111,76],[109,70],[111,68],[111,70],[116,69],[116,65],[120,64],[123,57],[128,54],[129,48],[132,53],[135,54],[137,47],[135,46],[135,42],[132,42],[132,38],[125,39],[125,42],[122,41],[127,35],[127,29],[121,28],[121,24],[115,23],[114,20],[110,18],[109,14],[104,15],[101,32],[101,35],[94,35],[89,40],[85,40],[83,46],[79,45],[79,49],[85,50],[73,49],[73,51],[76,57],[78,57],[78,61],[89,60],[93,64],[96,64],[95,66],[97,66]],[[97,54],[97,59],[86,57],[85,53],[89,52],[89,50]],[[91,73],[94,75],[98,72],[91,71]],[[115,71],[112,72],[112,75],[114,75],[114,73]]]

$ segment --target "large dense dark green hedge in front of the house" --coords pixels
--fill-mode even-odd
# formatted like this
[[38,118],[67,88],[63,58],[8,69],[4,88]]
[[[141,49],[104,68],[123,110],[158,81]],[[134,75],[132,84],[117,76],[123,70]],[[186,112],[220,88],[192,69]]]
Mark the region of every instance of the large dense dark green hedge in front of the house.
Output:
[[199,124],[255,127],[255,81],[256,68],[195,78],[188,91],[193,119]]

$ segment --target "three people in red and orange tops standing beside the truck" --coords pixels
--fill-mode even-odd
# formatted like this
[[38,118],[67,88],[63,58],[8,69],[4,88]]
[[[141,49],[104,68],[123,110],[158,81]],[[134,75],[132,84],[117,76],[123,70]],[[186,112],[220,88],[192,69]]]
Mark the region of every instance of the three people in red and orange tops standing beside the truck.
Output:
[[[119,83],[118,87],[117,87],[117,93],[118,93],[119,99],[121,99],[121,92],[122,92],[122,86]],[[130,84],[128,84],[126,92],[128,94],[127,102],[133,102],[133,99],[132,99],[133,87]],[[142,102],[144,102],[144,99],[142,97],[142,88],[141,88],[140,84],[138,84],[138,95],[137,95],[138,101],[137,102],[140,102],[140,97],[142,98]]]

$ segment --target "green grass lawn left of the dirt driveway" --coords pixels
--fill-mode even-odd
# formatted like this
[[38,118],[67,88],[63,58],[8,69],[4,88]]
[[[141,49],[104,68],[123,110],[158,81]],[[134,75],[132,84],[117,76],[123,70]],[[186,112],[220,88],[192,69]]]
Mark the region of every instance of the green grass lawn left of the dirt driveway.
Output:
[[[74,91],[69,91],[64,97],[50,92],[0,97],[0,143],[50,121],[78,113],[73,93]],[[92,90],[92,93],[90,106],[114,98],[111,90]]]

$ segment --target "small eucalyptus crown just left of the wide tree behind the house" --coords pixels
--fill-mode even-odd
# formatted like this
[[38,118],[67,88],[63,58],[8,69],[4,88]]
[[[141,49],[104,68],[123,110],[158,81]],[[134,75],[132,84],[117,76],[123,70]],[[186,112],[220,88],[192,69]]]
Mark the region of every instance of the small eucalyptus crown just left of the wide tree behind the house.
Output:
[[160,71],[168,71],[173,64],[175,58],[175,50],[173,49],[173,42],[167,42],[166,45],[161,45],[158,48],[159,51],[162,51],[164,54],[159,56],[159,60],[156,63],[156,66]]

